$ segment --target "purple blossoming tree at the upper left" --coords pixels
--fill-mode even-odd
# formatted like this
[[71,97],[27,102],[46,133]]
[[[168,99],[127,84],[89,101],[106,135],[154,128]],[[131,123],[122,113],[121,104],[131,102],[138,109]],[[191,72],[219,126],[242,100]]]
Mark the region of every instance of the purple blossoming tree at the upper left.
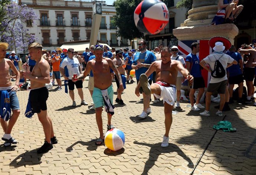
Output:
[[4,6],[6,15],[0,26],[0,41],[9,44],[10,50],[23,51],[24,48],[36,41],[35,34],[30,34],[29,29],[24,29],[22,23],[33,25],[39,17],[35,11],[26,5],[19,5],[13,0]]

